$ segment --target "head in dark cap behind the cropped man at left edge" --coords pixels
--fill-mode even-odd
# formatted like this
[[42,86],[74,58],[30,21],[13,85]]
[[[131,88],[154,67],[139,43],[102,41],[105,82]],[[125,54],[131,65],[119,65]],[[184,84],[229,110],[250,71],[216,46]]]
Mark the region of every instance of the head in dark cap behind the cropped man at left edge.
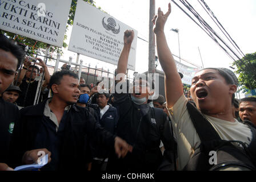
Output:
[[10,85],[5,92],[2,93],[3,100],[15,103],[19,97],[19,94],[21,94],[21,89],[18,86]]

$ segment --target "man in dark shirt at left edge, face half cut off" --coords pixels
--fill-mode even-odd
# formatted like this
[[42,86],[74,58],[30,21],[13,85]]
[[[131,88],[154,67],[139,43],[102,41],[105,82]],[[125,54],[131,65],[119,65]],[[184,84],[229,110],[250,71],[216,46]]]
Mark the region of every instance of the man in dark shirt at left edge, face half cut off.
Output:
[[[15,72],[21,65],[22,59],[24,59],[22,48],[0,35],[0,94],[5,92],[13,82]],[[18,107],[0,97],[0,171],[10,169],[5,163],[13,127],[18,117]]]

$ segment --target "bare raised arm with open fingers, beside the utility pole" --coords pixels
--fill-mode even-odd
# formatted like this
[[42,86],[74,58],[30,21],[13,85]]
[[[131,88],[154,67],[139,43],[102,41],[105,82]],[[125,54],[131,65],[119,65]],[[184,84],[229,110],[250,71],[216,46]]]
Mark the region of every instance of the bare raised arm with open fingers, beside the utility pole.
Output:
[[157,40],[158,59],[163,72],[165,72],[165,96],[166,106],[168,108],[172,107],[183,94],[181,77],[177,71],[173,55],[171,54],[171,51],[167,45],[164,32],[165,23],[170,13],[171,5],[169,3],[169,10],[167,13],[163,14],[163,11],[161,11],[159,7],[158,14],[155,15],[154,19],[152,20],[154,23],[153,31]]

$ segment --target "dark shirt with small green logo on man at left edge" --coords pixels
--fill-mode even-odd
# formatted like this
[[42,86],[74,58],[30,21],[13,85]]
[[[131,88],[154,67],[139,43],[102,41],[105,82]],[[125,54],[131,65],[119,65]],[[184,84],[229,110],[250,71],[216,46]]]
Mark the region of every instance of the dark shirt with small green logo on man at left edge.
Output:
[[11,134],[19,119],[19,109],[0,97],[0,163],[7,162]]

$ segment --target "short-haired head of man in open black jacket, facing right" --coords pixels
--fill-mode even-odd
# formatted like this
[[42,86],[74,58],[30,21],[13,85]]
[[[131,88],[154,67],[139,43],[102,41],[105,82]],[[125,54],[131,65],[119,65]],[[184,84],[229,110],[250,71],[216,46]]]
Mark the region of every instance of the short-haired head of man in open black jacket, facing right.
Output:
[[79,98],[79,77],[72,71],[63,69],[53,73],[49,86],[53,97],[66,102],[66,104],[74,104]]

